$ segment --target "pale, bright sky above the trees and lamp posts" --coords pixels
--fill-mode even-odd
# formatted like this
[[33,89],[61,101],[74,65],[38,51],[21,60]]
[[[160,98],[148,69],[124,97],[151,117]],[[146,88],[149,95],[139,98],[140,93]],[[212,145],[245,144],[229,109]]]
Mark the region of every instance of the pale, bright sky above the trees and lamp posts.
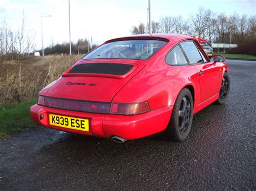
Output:
[[[190,17],[199,6],[216,13],[240,16],[256,14],[256,0],[151,0],[152,20],[164,16]],[[148,0],[70,0],[71,40],[93,39],[101,44],[111,38],[129,36],[132,25],[147,23]],[[0,25],[5,20],[12,30],[22,25],[36,36],[36,48],[42,46],[41,16],[43,17],[44,47],[69,41],[68,0],[0,0]]]

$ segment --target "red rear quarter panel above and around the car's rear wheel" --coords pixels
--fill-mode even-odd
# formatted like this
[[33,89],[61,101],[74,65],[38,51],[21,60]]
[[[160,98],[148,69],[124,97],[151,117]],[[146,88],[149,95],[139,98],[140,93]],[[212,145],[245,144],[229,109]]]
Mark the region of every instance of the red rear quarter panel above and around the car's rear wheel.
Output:
[[167,65],[166,53],[147,60],[146,66],[114,96],[112,102],[148,101],[151,110],[173,106],[180,91],[188,85],[194,88],[194,101],[200,101],[196,68]]

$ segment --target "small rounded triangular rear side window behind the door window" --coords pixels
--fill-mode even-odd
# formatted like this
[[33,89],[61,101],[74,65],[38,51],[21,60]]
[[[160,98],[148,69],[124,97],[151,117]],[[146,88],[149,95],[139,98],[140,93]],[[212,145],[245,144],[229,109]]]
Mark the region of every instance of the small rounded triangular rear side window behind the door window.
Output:
[[165,61],[169,65],[185,65],[187,60],[183,54],[180,46],[176,46],[166,55]]

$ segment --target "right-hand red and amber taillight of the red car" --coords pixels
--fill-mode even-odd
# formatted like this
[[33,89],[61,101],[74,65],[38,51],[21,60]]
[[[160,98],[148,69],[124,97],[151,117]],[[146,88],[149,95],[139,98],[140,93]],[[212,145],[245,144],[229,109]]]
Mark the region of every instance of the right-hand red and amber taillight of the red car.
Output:
[[150,111],[149,103],[112,103],[110,114],[116,115],[137,115]]

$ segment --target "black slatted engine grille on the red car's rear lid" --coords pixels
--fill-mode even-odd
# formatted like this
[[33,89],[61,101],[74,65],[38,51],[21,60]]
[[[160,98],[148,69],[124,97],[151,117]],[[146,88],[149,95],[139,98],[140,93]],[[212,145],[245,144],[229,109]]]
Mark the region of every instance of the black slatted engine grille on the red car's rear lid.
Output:
[[86,74],[110,74],[124,75],[133,68],[133,65],[124,63],[82,63],[75,65],[69,74],[86,73]]

